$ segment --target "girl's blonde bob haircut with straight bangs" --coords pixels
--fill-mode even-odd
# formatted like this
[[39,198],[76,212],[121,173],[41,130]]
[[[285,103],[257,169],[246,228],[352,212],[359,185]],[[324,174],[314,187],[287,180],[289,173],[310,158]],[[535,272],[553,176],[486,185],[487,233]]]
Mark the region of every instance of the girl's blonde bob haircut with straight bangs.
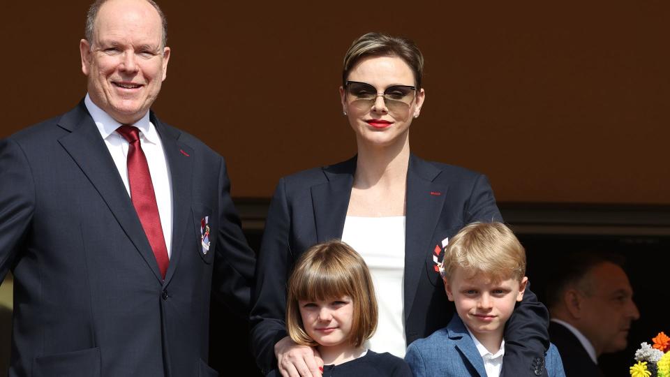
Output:
[[329,241],[308,249],[297,261],[288,281],[286,327],[293,341],[318,346],[305,331],[299,300],[328,300],[349,296],[353,318],[352,346],[359,347],[377,328],[377,299],[368,266],[348,244]]

